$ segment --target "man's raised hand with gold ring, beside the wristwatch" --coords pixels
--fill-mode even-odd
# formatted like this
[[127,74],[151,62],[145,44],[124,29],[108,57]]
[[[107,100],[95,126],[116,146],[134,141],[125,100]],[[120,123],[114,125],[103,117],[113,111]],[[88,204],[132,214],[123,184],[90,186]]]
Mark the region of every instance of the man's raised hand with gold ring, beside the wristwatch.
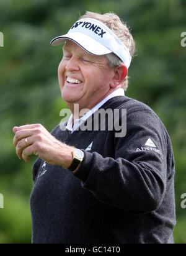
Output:
[[64,168],[68,168],[73,162],[74,147],[57,140],[41,124],[15,126],[13,132],[15,134],[13,144],[20,160],[28,162],[29,155],[38,155],[45,162],[61,165]]

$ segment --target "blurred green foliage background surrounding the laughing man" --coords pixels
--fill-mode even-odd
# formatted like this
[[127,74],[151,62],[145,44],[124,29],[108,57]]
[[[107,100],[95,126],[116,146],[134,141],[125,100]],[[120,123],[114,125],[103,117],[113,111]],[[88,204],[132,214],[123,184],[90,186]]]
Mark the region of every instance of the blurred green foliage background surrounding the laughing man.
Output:
[[175,154],[175,243],[186,243],[185,0],[0,0],[0,244],[30,243],[32,164],[15,155],[12,127],[41,123],[52,130],[65,106],[57,69],[62,47],[51,47],[85,11],[113,11],[131,27],[137,53],[126,95],[148,104],[166,126]]

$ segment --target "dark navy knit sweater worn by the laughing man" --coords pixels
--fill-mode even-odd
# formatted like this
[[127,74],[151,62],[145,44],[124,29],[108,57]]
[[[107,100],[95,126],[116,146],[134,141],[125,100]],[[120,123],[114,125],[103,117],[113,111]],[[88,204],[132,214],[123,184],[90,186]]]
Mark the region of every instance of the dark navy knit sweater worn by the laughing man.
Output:
[[71,134],[58,126],[51,134],[82,149],[81,167],[73,174],[40,158],[34,163],[33,244],[174,243],[174,155],[164,125],[127,97],[109,99],[102,109],[126,109],[125,137],[107,127]]

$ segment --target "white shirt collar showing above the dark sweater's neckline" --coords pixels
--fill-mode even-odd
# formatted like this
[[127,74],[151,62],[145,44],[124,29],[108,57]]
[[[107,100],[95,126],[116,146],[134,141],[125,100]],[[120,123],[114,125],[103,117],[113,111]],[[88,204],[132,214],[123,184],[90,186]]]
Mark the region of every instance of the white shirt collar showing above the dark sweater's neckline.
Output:
[[68,124],[66,125],[66,129],[70,130],[71,133],[74,132],[74,130],[77,130],[79,126],[81,126],[82,122],[86,121],[92,114],[94,114],[97,109],[99,109],[103,104],[105,104],[108,99],[112,99],[115,96],[125,96],[125,91],[123,88],[116,89],[112,93],[110,93],[105,99],[100,101],[97,105],[92,107],[91,110],[89,110],[84,116],[82,116],[80,119],[76,119],[74,121],[74,126],[73,126],[73,114],[69,117]]

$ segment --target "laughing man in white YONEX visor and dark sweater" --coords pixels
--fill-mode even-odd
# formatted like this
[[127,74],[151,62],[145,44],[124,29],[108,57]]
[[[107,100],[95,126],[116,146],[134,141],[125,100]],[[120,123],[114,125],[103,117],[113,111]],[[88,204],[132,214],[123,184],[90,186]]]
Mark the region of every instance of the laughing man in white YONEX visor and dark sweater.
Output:
[[[38,155],[30,196],[32,242],[174,243],[169,135],[152,109],[125,96],[135,53],[130,31],[113,13],[86,12],[68,34],[51,41],[63,43],[58,80],[71,117],[51,133],[41,124],[13,128],[20,160]],[[109,110],[108,116],[97,118],[100,110]],[[117,110],[110,127],[106,123]],[[117,137],[123,110],[126,134]],[[104,119],[105,130],[82,129],[95,119],[99,126]]]

